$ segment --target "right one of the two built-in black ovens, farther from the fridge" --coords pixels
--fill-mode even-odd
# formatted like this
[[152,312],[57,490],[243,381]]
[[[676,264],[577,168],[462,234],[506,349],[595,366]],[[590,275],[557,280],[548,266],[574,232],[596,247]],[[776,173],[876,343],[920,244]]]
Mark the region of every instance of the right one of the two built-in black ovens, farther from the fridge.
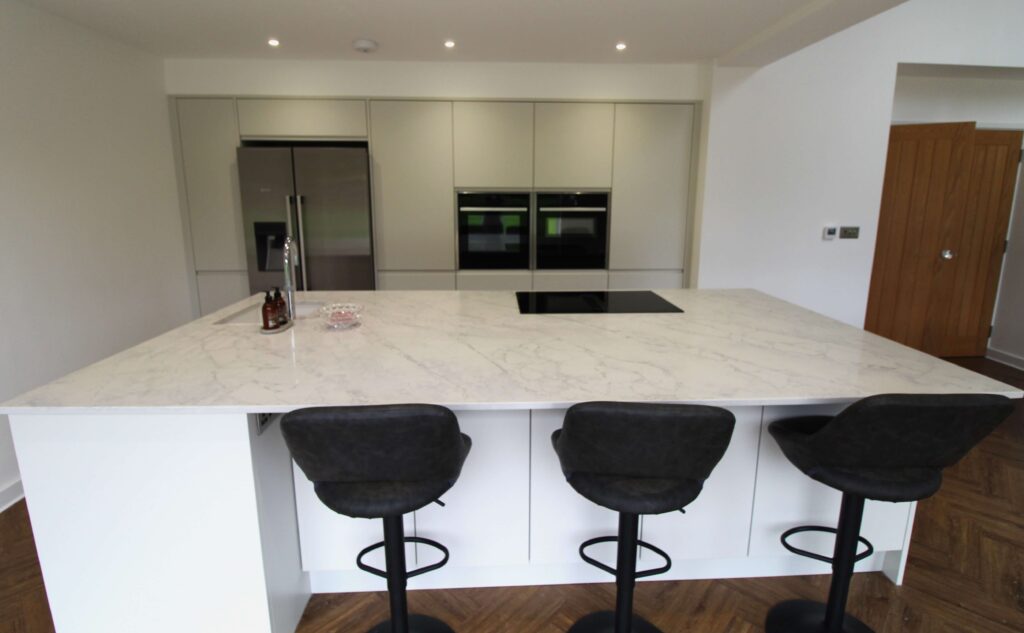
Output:
[[608,194],[537,194],[537,267],[608,266]]

